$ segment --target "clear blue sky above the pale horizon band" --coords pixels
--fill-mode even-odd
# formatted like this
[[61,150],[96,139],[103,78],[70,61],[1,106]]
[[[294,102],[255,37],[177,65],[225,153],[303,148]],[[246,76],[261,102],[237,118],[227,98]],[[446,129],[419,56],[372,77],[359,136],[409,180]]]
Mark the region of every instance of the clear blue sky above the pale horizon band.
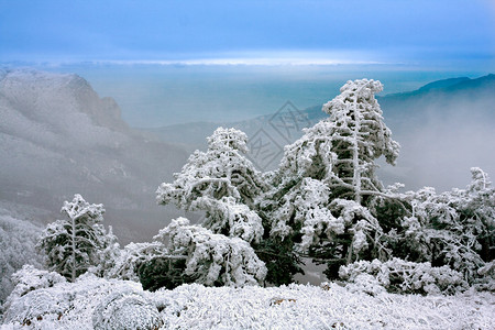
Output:
[[495,67],[488,0],[0,0],[0,62]]

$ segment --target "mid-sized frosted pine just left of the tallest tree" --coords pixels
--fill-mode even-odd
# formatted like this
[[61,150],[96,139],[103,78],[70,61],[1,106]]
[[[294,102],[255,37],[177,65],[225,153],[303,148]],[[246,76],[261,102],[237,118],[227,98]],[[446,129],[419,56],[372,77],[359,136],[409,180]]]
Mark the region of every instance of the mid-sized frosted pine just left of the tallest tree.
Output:
[[[250,253],[266,262],[268,282],[288,284],[290,274],[299,271],[298,258],[290,245],[271,240],[264,229],[267,219],[260,212],[260,201],[270,186],[244,156],[245,133],[219,128],[207,140],[207,152],[196,151],[183,170],[175,174],[174,183],[160,186],[158,204],[175,202],[185,210],[205,210],[204,228],[197,230],[223,234],[224,241],[242,239],[251,244]],[[216,235],[211,238],[215,242],[222,241]]]

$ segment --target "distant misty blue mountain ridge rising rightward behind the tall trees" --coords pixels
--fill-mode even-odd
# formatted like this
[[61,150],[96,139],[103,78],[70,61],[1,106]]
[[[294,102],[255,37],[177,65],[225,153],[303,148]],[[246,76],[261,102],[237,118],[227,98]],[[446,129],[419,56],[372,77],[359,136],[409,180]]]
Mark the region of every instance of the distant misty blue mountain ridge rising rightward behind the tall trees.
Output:
[[[376,98],[394,139],[403,145],[398,165],[383,166],[385,183],[402,182],[409,189],[463,187],[470,180],[471,166],[495,176],[495,75],[438,80],[414,91]],[[240,122],[198,122],[151,131],[191,152],[205,150],[206,136],[219,125],[238,128],[250,138],[249,157],[261,169],[273,169],[284,145],[298,139],[302,128],[327,118],[321,106],[297,110],[289,105],[277,113]]]

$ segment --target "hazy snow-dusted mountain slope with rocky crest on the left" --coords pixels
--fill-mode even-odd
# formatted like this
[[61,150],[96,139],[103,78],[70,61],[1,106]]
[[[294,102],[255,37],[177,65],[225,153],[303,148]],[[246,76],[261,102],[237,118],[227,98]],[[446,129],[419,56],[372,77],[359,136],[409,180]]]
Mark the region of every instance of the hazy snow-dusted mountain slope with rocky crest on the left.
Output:
[[59,218],[63,201],[81,194],[106,206],[123,242],[148,240],[176,215],[154,191],[188,154],[130,129],[84,78],[0,69],[0,199]]

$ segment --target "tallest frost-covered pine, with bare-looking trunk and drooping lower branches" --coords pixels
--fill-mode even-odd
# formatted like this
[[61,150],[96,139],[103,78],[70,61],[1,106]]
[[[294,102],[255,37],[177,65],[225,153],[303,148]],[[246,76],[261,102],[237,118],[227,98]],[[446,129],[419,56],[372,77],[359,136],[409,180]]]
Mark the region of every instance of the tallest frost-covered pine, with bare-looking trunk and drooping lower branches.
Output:
[[293,240],[302,253],[319,246],[314,255],[338,264],[386,257],[383,229],[369,206],[377,197],[393,197],[376,177],[375,161],[385,156],[394,165],[399,144],[374,97],[381,90],[380,81],[348,81],[323,105],[329,118],[285,147],[262,206],[271,215],[272,235]]

